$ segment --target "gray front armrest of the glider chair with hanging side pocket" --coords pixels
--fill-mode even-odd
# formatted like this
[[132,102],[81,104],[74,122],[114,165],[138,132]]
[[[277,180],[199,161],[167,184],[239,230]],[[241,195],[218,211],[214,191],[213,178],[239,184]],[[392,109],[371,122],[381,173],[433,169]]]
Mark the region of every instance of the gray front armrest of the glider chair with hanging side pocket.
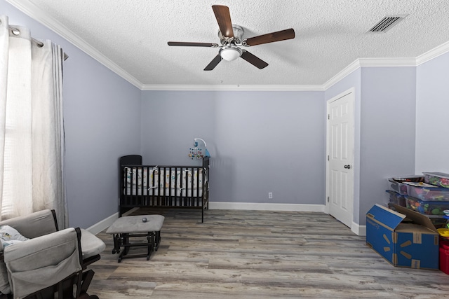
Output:
[[67,228],[6,246],[4,260],[14,298],[22,298],[81,271],[81,232]]

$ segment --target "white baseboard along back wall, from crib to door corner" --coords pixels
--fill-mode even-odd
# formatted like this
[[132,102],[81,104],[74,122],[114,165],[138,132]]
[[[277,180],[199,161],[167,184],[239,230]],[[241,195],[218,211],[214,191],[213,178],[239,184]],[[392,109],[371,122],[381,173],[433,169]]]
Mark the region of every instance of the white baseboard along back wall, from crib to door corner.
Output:
[[209,209],[243,209],[259,211],[319,211],[324,213],[324,204],[261,204],[257,202],[209,202]]

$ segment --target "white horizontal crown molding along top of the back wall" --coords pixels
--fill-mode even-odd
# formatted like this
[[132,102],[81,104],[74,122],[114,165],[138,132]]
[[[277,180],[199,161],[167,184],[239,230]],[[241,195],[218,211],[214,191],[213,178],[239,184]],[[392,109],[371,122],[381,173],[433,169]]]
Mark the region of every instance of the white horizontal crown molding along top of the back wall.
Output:
[[323,85],[143,85],[141,90],[323,91]]

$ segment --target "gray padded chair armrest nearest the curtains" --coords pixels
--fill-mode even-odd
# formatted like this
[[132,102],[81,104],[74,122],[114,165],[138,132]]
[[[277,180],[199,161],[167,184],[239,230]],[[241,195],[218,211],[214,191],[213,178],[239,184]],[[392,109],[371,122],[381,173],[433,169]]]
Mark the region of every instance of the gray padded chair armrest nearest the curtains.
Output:
[[0,225],[10,225],[24,237],[32,239],[58,231],[58,223],[53,213],[54,211],[49,209],[36,211],[32,214],[1,221]]

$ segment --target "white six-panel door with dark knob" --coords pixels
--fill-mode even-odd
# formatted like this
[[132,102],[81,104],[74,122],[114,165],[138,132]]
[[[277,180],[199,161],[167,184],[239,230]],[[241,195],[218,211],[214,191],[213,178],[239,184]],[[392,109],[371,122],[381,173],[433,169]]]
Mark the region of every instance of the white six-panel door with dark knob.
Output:
[[328,101],[329,214],[351,227],[354,204],[354,92]]

